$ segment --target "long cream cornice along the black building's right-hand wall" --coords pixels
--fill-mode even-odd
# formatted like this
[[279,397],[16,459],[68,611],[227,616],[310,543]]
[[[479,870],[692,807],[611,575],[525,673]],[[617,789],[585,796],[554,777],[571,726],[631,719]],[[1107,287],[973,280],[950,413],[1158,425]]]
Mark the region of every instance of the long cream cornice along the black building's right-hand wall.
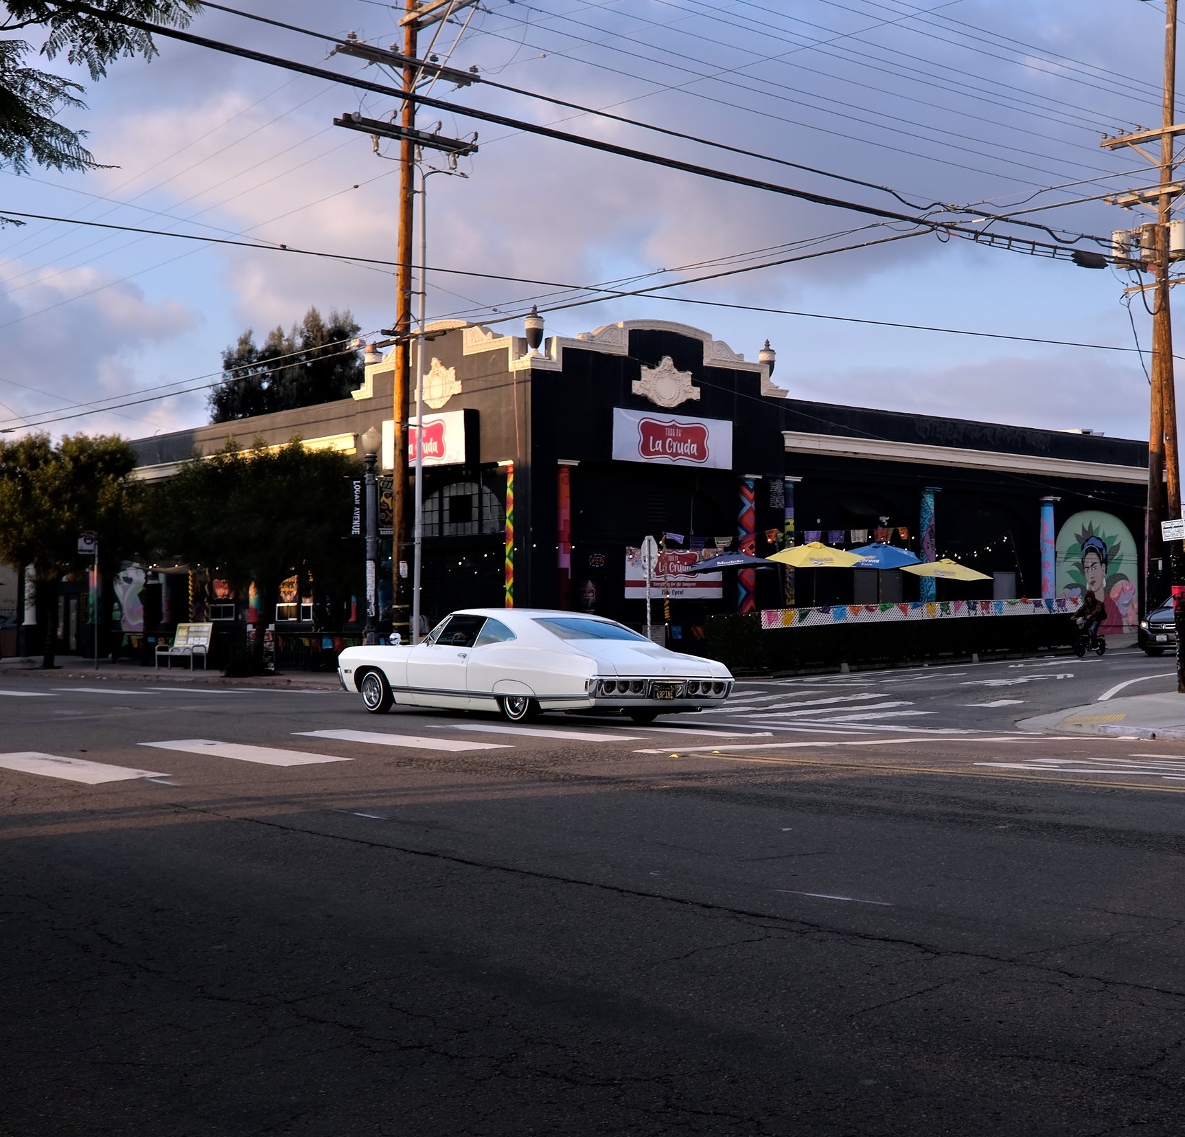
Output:
[[1037,454],[1006,454],[1001,451],[974,451],[925,442],[892,442],[885,439],[856,439],[839,434],[783,430],[788,454],[821,454],[828,458],[857,458],[865,461],[912,462],[920,466],[955,466],[963,470],[993,470],[1003,473],[1043,474],[1089,481],[1122,481],[1147,485],[1144,466],[1087,462],[1070,458],[1043,458]]

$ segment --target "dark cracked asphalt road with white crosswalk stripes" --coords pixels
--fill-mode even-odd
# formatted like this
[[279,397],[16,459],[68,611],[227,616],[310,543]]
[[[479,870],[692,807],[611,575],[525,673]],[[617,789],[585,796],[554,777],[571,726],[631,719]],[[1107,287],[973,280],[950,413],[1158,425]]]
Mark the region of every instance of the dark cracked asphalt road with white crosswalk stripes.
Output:
[[1176,1137],[1185,745],[1016,727],[1172,667],[647,729],[5,677],[0,1132]]

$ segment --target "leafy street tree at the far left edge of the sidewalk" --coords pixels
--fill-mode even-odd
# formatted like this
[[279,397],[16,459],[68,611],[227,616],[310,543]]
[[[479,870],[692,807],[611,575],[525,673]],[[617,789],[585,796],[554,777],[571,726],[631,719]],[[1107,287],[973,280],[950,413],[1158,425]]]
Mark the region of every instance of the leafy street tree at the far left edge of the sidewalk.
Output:
[[76,434],[55,447],[47,434],[0,442],[0,561],[32,567],[43,666],[56,654],[63,576],[85,570],[78,535],[98,535],[100,573],[110,580],[141,539],[136,453],[113,435]]

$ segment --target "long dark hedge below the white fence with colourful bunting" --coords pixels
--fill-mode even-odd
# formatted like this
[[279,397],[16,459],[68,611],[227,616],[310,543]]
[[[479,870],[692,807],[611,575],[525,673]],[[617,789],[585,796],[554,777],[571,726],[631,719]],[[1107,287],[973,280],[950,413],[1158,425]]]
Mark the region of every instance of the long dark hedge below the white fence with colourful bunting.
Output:
[[734,672],[1035,652],[1072,641],[1075,607],[1064,598],[956,600],[716,615],[709,617],[697,650]]

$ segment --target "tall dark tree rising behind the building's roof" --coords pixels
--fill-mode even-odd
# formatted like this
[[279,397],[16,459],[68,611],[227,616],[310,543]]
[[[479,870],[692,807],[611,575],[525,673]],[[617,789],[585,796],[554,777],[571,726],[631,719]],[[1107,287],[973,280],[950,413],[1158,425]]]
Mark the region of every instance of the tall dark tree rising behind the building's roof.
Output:
[[287,334],[273,328],[262,347],[248,328],[223,352],[223,382],[210,394],[211,421],[348,398],[364,378],[361,359],[350,349],[359,331],[348,309],[332,311],[326,322],[316,308]]

